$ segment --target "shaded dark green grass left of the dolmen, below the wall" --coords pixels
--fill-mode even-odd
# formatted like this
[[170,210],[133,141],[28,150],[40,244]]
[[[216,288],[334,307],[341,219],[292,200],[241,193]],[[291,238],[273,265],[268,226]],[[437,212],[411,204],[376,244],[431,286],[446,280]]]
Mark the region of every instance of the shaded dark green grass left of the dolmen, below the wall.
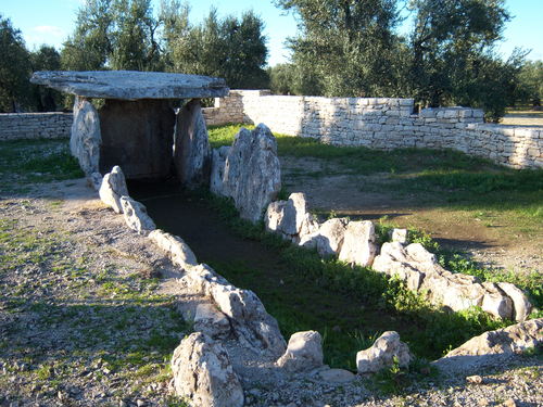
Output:
[[60,181],[84,176],[70,154],[68,141],[13,140],[0,143],[2,192],[24,192],[30,183]]

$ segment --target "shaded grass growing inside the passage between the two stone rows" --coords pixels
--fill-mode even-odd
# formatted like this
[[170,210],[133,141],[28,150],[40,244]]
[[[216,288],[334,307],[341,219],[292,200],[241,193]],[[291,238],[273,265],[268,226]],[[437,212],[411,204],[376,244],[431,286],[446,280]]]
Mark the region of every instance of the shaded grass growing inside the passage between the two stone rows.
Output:
[[[279,277],[276,270],[270,277],[263,269],[236,262],[212,267],[233,284],[255,291],[286,338],[301,330],[319,331],[325,363],[330,366],[355,369],[356,352],[389,329],[400,331],[419,357],[434,359],[473,335],[510,323],[493,320],[478,308],[452,314],[440,310],[400,281],[334,258],[323,259],[316,252],[263,231],[262,225],[239,219],[227,200],[207,200],[232,231],[277,253],[289,272]],[[267,282],[279,278],[279,285]]]

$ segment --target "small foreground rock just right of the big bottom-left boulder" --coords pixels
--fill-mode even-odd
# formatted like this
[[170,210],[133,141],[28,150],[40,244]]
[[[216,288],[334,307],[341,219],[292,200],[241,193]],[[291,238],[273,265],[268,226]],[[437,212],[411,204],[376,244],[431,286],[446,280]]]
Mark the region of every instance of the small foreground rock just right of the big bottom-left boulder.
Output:
[[277,360],[290,372],[306,371],[323,366],[323,338],[316,331],[296,332],[290,336],[285,354]]

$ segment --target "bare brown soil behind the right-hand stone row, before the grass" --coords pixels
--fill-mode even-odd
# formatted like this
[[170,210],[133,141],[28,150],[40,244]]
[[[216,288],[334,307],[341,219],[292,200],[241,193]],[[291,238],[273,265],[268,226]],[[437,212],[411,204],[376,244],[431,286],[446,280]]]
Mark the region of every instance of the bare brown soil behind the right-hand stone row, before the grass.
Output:
[[477,217],[435,199],[365,189],[366,185],[386,185],[387,174],[303,176],[324,170],[324,164],[292,156],[281,157],[281,165],[287,190],[304,192],[311,209],[370,220],[386,217],[397,227],[424,230],[443,247],[463,251],[484,266],[543,272],[543,225],[526,230],[506,217]]

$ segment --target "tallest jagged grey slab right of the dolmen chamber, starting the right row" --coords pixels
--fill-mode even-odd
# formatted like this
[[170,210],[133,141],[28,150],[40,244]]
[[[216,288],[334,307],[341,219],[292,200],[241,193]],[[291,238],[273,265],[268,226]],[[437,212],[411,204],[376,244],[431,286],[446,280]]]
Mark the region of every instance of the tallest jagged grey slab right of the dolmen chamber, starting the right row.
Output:
[[230,196],[240,216],[256,222],[281,189],[277,142],[263,124],[252,131],[242,128],[228,151],[222,195]]

